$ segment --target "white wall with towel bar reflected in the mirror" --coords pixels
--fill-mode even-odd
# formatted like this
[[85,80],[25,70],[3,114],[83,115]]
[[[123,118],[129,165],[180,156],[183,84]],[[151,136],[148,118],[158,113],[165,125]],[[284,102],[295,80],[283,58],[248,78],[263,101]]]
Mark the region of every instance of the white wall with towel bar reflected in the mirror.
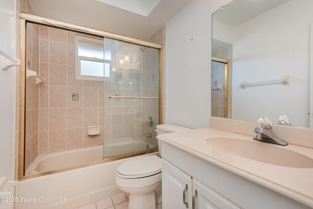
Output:
[[[294,126],[309,126],[309,46],[313,1],[290,0],[233,29],[233,103],[236,119],[287,114]],[[240,83],[281,79],[290,85],[241,89]],[[257,107],[257,108],[251,108]]]

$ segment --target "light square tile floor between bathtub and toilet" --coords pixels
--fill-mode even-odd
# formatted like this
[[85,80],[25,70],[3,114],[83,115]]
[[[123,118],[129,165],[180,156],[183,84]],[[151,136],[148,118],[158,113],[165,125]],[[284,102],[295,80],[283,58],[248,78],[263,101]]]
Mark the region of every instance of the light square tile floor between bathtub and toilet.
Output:
[[123,192],[76,209],[127,209],[128,197]]

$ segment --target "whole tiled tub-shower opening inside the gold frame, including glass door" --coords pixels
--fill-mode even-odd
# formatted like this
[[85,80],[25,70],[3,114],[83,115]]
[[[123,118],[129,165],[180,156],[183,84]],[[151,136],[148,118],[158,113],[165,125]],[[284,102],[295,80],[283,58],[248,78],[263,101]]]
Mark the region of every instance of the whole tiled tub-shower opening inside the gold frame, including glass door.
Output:
[[[25,74],[23,176],[157,148],[160,49],[37,23],[25,32],[26,68],[45,81]],[[37,170],[45,156],[91,148],[78,164]]]

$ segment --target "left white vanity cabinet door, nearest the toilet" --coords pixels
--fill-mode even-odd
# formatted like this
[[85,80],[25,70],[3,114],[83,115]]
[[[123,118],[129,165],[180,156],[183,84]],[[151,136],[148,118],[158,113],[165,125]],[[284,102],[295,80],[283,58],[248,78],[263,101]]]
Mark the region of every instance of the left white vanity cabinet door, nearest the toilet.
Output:
[[162,159],[162,209],[192,209],[192,179]]

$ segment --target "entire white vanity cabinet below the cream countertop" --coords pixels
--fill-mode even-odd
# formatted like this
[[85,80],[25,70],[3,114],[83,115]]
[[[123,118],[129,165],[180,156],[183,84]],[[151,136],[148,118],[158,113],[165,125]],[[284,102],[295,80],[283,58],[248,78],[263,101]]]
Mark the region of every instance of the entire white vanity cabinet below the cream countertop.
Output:
[[188,209],[310,209],[176,146],[161,146],[163,209],[186,209],[184,202]]

